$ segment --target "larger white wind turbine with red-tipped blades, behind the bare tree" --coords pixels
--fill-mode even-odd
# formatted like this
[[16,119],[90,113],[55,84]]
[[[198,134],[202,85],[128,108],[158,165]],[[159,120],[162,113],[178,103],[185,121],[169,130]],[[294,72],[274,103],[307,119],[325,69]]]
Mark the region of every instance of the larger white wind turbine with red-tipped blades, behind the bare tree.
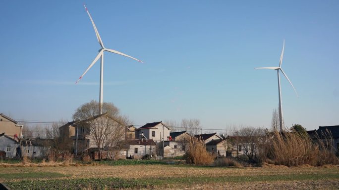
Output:
[[97,27],[96,27],[95,24],[94,24],[94,21],[93,21],[93,19],[92,19],[91,14],[89,13],[89,11],[88,11],[88,9],[87,9],[87,7],[86,7],[85,5],[84,5],[84,7],[85,7],[85,10],[86,10],[88,16],[89,16],[90,19],[91,19],[91,22],[92,22],[92,25],[93,25],[95,34],[96,34],[96,36],[97,36],[98,42],[99,42],[99,44],[100,44],[100,46],[101,46],[101,49],[99,49],[98,55],[95,57],[95,59],[93,60],[93,62],[90,64],[90,66],[86,69],[86,71],[79,77],[79,79],[78,79],[75,83],[78,83],[78,81],[79,81],[79,80],[87,73],[87,71],[88,71],[89,69],[91,69],[91,67],[98,61],[98,59],[101,58],[101,65],[100,65],[100,98],[99,98],[99,113],[102,114],[102,113],[103,113],[103,112],[102,112],[102,107],[103,107],[103,85],[104,85],[104,81],[103,81],[103,80],[104,80],[104,52],[105,52],[105,51],[108,51],[108,52],[111,52],[111,53],[116,53],[116,54],[119,54],[119,55],[123,55],[123,56],[125,56],[125,57],[129,57],[129,58],[134,59],[134,60],[136,60],[136,61],[139,61],[139,62],[141,62],[141,63],[144,63],[144,62],[142,62],[142,61],[140,61],[140,60],[138,60],[138,59],[136,59],[136,58],[134,58],[134,57],[131,57],[131,56],[129,56],[129,55],[126,55],[126,54],[124,54],[124,53],[121,53],[121,52],[119,52],[119,51],[116,51],[116,50],[113,50],[113,49],[105,48],[104,43],[103,43],[103,41],[102,41],[101,38],[100,38],[99,32],[98,32],[98,30],[97,30]]

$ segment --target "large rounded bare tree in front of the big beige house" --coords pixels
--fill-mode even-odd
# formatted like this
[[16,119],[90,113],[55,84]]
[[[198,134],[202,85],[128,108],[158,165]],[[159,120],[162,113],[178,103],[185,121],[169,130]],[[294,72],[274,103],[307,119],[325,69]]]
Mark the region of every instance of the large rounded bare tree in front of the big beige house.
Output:
[[103,159],[104,150],[106,159],[114,158],[124,140],[125,126],[130,124],[127,116],[120,115],[113,103],[104,103],[103,112],[105,114],[99,114],[99,103],[91,101],[73,114],[73,119],[80,120],[79,125],[86,128],[90,147],[93,145],[98,149],[99,160]]

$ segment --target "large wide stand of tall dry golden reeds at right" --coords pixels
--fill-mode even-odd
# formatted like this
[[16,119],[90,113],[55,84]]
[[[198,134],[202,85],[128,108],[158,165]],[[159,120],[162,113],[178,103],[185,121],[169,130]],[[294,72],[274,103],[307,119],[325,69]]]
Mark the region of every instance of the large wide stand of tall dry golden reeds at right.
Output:
[[319,166],[323,164],[338,164],[334,148],[330,140],[313,142],[312,139],[303,133],[274,132],[272,138],[264,145],[262,150],[263,160],[269,157],[270,162],[277,165],[298,166],[309,164]]

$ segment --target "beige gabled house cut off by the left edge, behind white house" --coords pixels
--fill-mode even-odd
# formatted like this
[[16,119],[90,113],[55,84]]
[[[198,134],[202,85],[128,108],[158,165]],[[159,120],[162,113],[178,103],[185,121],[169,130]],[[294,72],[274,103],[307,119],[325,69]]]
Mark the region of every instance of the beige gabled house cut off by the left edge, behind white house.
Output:
[[0,114],[0,133],[4,133],[8,137],[14,138],[16,135],[18,138],[22,138],[23,125],[18,125],[18,122],[14,119]]

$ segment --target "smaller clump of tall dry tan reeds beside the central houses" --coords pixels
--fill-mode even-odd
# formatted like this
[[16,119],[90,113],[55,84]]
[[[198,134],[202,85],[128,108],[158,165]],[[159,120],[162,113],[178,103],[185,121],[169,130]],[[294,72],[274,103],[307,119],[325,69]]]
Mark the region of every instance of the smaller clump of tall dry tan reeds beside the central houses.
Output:
[[191,137],[188,139],[186,161],[195,165],[210,165],[214,156],[206,151],[206,145],[202,139]]

